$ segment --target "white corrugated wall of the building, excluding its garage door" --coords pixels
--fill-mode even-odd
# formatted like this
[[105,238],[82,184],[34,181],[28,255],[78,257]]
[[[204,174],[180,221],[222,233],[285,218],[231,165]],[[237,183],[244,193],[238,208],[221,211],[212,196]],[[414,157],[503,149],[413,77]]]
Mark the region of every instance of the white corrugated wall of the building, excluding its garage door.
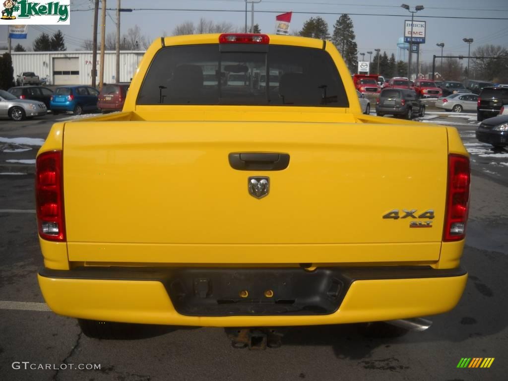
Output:
[[[120,52],[120,82],[130,82],[136,73],[139,62],[145,52],[121,51]],[[40,78],[46,78],[47,84],[53,84],[53,58],[54,57],[78,57],[79,58],[79,83],[76,85],[91,85],[92,52],[12,52],[14,67],[14,79],[22,72],[34,72]],[[115,82],[116,53],[107,51],[105,54],[104,82]],[[97,83],[99,84],[100,54],[97,54]]]

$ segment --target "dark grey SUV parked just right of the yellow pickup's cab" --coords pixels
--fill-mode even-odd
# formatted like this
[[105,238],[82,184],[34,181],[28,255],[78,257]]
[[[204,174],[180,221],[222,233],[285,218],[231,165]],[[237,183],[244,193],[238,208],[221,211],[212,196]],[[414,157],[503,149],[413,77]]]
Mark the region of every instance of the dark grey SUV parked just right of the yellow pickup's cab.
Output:
[[376,115],[397,115],[411,119],[414,115],[424,116],[425,105],[414,90],[402,88],[383,89],[376,101]]

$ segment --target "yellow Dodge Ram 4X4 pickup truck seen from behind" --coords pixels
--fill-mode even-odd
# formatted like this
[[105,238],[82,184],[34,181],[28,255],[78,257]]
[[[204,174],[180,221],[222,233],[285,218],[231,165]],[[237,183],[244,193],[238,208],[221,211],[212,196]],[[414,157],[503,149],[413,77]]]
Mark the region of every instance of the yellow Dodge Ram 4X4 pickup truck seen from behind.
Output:
[[410,323],[466,284],[457,131],[362,114],[328,41],[157,39],[122,112],[53,125],[36,178],[42,293],[90,336]]

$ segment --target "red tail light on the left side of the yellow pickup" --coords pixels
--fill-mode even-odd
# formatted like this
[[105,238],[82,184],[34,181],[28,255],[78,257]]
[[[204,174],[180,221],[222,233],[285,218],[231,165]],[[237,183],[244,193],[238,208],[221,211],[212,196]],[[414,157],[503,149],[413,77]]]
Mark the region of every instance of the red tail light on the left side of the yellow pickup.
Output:
[[65,241],[63,215],[62,153],[41,153],[36,164],[36,202],[39,235],[49,241]]

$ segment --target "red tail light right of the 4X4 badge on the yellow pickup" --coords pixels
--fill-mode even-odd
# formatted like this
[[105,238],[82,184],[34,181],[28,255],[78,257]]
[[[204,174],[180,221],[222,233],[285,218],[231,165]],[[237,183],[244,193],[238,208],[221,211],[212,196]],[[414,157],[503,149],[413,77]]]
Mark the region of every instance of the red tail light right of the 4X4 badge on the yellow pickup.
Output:
[[469,184],[471,171],[469,158],[448,156],[448,195],[444,216],[443,241],[459,241],[465,237],[469,213]]

